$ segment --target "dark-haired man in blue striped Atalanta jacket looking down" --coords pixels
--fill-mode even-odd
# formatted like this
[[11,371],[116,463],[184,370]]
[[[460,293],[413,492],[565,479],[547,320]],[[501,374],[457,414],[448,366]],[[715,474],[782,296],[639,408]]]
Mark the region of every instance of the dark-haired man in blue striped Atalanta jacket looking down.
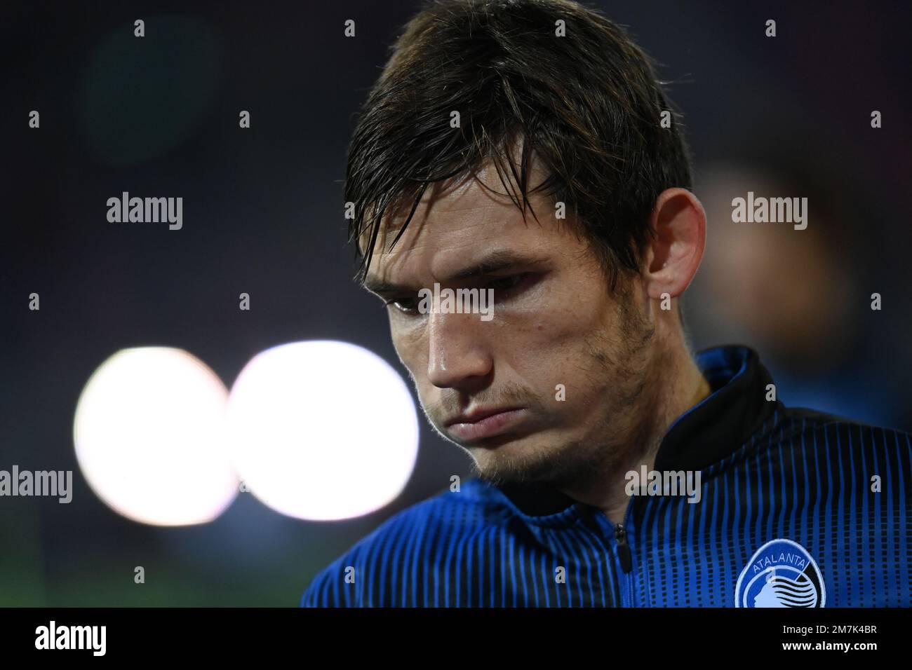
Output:
[[[668,110],[581,5],[409,22],[346,200],[421,406],[478,477],[383,523],[302,605],[912,604],[909,437],[783,407],[749,347],[689,352],[706,221]],[[491,318],[447,290],[491,294]]]

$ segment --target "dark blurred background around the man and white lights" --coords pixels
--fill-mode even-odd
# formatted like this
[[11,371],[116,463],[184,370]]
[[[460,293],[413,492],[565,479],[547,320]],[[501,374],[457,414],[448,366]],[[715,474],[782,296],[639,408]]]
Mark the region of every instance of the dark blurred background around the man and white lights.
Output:
[[[685,299],[694,348],[752,345],[786,404],[912,429],[907,3],[596,6],[658,60],[684,113],[710,214],[705,267]],[[217,521],[173,529],[109,510],[73,451],[79,393],[125,347],[181,347],[230,387],[269,346],[338,339],[407,378],[376,299],[351,282],[342,179],[352,114],[416,7],[0,9],[0,469],[72,469],[75,489],[68,505],[0,498],[0,605],[295,605],[380,521],[469,472],[422,417],[409,486],[373,514],[297,521],[241,494]],[[355,38],[343,35],[348,18]],[[32,109],[40,129],[28,128]],[[241,109],[251,129],[238,128]],[[870,127],[873,109],[882,129]],[[809,197],[808,230],[753,224],[759,242],[737,251],[746,238],[726,203],[768,183],[772,195]],[[183,197],[183,229],[109,223],[106,202],[121,191]],[[238,310],[241,292],[250,312]],[[134,584],[135,565],[146,584]]]

